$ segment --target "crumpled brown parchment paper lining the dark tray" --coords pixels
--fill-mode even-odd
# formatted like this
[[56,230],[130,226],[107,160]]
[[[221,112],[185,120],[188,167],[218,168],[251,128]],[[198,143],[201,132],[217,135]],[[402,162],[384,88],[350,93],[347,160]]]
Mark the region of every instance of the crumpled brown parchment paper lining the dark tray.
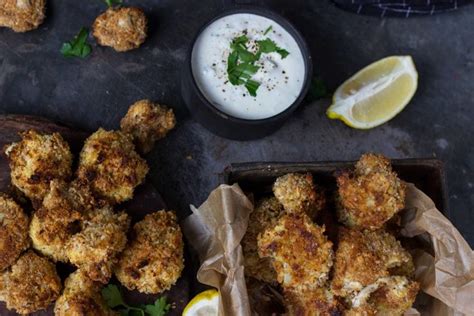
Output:
[[[252,202],[238,184],[221,185],[184,222],[184,234],[199,254],[199,282],[217,288],[219,315],[251,315],[240,241]],[[433,201],[408,184],[402,235],[426,247],[412,254],[423,294],[406,315],[474,315],[474,252]]]

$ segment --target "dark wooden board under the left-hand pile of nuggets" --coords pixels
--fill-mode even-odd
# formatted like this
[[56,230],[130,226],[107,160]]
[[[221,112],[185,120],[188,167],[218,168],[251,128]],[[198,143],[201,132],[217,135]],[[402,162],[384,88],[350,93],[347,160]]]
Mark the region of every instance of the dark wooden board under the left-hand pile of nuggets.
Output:
[[[44,133],[60,133],[71,146],[71,150],[76,158],[82,148],[84,139],[89,135],[89,133],[84,131],[69,128],[35,116],[0,115],[0,148],[3,149],[6,144],[19,140],[18,133],[28,129],[35,129]],[[0,154],[0,192],[8,192],[10,189],[10,169],[2,150]],[[161,198],[161,195],[149,181],[146,181],[137,188],[133,200],[118,206],[118,209],[125,210],[131,216],[132,224],[141,220],[150,212],[165,208],[166,204]],[[73,268],[68,265],[58,264],[58,271],[62,279],[65,279],[72,270]],[[175,306],[169,315],[181,315],[184,306],[186,306],[186,303],[189,301],[190,286],[193,279],[194,277],[192,276],[191,270],[185,268],[182,277],[178,280],[176,285],[173,286],[170,291],[162,294]],[[112,279],[111,283],[119,284],[116,279]],[[137,291],[128,291],[123,287],[122,290],[127,302],[132,304],[150,304],[158,297],[157,295],[145,295]],[[5,304],[0,303],[0,315],[10,316],[17,314],[8,311]],[[53,305],[50,306],[48,310],[40,311],[32,315],[53,315]]]

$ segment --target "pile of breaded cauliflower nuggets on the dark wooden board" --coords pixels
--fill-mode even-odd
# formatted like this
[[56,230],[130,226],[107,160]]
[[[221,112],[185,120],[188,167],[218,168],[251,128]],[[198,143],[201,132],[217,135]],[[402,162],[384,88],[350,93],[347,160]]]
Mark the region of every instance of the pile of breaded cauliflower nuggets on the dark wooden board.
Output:
[[[172,211],[136,223],[114,206],[130,200],[148,172],[135,151],[149,151],[175,126],[172,110],[138,101],[120,131],[99,129],[84,144],[73,177],[73,155],[61,135],[34,130],[5,147],[11,181],[31,201],[0,195],[0,300],[28,314],[56,301],[55,315],[115,315],[100,290],[113,274],[130,290],[169,289],[184,267],[183,240]],[[131,236],[130,238],[127,238]],[[55,262],[77,270],[64,288]]]

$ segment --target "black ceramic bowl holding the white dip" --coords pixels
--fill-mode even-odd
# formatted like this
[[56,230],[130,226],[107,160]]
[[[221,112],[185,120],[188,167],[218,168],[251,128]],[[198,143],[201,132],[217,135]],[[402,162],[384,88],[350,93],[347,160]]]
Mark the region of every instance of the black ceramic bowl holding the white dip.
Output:
[[[204,94],[199,89],[192,71],[192,53],[196,40],[201,32],[214,21],[236,13],[250,13],[260,15],[275,21],[280,24],[290,35],[293,36],[298,44],[301,54],[303,55],[305,63],[305,77],[303,87],[298,98],[285,111],[259,120],[247,120],[230,116],[221,110],[217,109],[210,101],[206,99]],[[261,138],[275,132],[283,122],[293,113],[294,110],[301,104],[309,85],[311,84],[311,76],[313,72],[311,62],[311,54],[309,53],[306,42],[296,28],[282,16],[276,14],[268,9],[245,6],[239,8],[227,9],[221,14],[215,16],[205,25],[203,25],[197,32],[191,47],[186,55],[186,61],[183,66],[183,73],[181,76],[181,93],[193,117],[205,128],[212,133],[235,140],[250,140]]]

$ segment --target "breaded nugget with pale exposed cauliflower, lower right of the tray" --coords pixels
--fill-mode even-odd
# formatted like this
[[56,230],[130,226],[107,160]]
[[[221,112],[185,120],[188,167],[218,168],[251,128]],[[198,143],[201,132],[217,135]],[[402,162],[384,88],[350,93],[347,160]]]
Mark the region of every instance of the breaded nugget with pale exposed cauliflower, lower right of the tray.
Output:
[[373,315],[401,316],[415,302],[419,288],[418,282],[404,276],[380,278],[352,298],[352,309],[375,310]]

